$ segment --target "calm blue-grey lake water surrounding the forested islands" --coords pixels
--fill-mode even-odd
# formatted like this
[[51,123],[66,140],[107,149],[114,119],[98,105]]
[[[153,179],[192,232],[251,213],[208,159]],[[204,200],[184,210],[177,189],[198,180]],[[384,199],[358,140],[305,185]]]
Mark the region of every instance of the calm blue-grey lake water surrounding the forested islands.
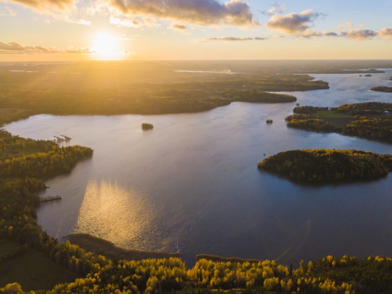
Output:
[[[392,85],[386,74],[313,75],[330,90],[290,93],[301,105],[392,102],[370,91]],[[46,182],[38,207],[51,235],[83,232],[120,247],[175,252],[188,264],[199,253],[277,259],[283,263],[333,255],[392,255],[392,175],[365,182],[298,185],[261,172],[257,163],[302,148],[392,153],[392,145],[338,134],[288,129],[293,104],[233,103],[197,114],[53,116],[13,122],[15,135],[94,149],[69,175]],[[266,125],[272,118],[274,124]],[[143,132],[142,122],[154,124]]]

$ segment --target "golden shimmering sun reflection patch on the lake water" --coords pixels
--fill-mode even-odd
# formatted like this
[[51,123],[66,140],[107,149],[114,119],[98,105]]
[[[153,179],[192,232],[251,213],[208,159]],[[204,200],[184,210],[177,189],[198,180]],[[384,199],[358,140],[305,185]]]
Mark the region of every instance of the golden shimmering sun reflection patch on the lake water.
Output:
[[90,180],[79,210],[76,233],[104,238],[123,248],[143,249],[154,224],[154,206],[117,182]]

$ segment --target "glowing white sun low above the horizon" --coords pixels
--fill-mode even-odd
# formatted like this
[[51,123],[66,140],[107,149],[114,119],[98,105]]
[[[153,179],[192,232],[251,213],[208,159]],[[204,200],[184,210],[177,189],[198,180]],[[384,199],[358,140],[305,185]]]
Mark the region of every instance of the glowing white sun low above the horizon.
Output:
[[107,32],[95,33],[92,50],[95,52],[94,59],[122,59],[119,38]]

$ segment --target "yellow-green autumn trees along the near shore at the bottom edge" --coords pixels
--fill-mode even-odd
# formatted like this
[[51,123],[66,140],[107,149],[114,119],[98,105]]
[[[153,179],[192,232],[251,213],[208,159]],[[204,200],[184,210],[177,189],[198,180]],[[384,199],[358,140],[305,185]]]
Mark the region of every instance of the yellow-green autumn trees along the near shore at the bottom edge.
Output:
[[[95,269],[86,278],[56,285],[45,293],[231,293],[231,289],[236,289],[236,293],[287,294],[392,291],[392,259],[378,256],[367,259],[327,256],[315,262],[301,261],[297,269],[270,260],[214,262],[206,259],[187,269],[179,258],[119,260]],[[22,290],[17,284],[6,287]]]

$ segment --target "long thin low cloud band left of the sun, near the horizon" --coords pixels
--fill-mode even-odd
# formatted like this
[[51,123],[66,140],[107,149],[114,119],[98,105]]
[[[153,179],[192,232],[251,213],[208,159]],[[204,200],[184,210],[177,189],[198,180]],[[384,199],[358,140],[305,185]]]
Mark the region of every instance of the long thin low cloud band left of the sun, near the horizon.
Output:
[[77,53],[92,54],[90,48],[51,48],[43,46],[22,46],[16,42],[3,43],[0,42],[0,54],[31,54],[31,53]]

